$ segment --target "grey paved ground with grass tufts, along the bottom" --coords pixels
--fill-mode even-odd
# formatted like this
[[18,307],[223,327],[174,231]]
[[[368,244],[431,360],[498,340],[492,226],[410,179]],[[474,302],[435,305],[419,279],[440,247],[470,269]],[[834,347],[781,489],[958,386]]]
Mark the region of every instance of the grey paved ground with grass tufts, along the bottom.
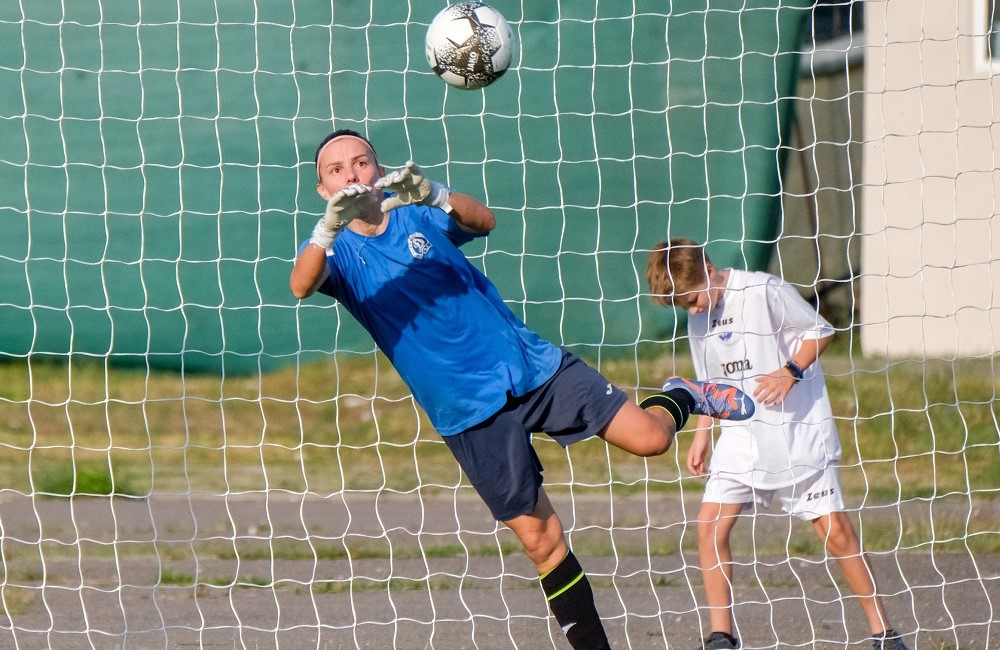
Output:
[[[697,500],[553,501],[613,647],[696,647],[707,634],[689,523]],[[862,530],[877,522],[901,533],[945,519],[998,546],[995,501],[860,513]],[[812,533],[800,523],[773,511],[737,527],[745,647],[871,647],[836,564],[802,545]],[[8,492],[0,528],[0,648],[569,647],[509,531],[464,493]],[[1000,647],[1000,554],[932,539],[869,553],[893,625],[911,648]]]

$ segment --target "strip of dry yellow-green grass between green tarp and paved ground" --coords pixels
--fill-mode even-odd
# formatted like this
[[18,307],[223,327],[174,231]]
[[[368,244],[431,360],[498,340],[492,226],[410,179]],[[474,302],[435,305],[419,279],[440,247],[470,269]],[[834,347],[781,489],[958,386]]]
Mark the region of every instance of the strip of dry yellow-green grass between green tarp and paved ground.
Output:
[[[834,348],[823,363],[850,496],[996,496],[1000,380],[991,360],[887,362]],[[683,355],[605,361],[601,370],[636,398],[691,371]],[[0,434],[3,488],[22,493],[423,494],[464,481],[381,355],[224,378],[8,361],[0,364]],[[567,451],[539,436],[536,449],[550,491],[675,492],[692,480],[687,440],[682,433],[665,457],[649,460],[597,439]]]

